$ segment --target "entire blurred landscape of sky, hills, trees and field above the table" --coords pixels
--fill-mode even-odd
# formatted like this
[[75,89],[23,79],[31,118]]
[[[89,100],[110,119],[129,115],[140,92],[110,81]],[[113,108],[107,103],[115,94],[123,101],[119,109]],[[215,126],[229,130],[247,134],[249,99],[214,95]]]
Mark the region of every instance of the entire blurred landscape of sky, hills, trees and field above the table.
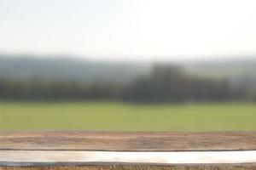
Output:
[[0,130],[256,130],[253,0],[0,0]]

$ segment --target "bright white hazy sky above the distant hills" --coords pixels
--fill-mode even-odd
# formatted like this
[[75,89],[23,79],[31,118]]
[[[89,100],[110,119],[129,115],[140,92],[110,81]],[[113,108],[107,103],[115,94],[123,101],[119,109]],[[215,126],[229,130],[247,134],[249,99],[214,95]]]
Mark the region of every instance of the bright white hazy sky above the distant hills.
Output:
[[256,1],[0,0],[0,53],[165,60],[256,54]]

